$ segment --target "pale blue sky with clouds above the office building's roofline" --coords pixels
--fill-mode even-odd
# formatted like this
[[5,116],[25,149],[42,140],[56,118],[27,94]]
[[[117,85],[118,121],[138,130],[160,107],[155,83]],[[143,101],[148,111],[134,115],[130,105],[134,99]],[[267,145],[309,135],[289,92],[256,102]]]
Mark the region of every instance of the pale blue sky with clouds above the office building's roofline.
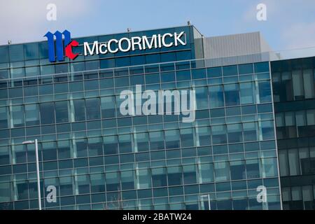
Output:
[[[314,0],[0,0],[0,44],[42,41],[47,31],[69,29],[71,36],[92,36],[186,25],[204,36],[261,31],[274,50],[315,46]],[[57,20],[46,20],[48,3]],[[265,3],[267,21],[256,19]]]

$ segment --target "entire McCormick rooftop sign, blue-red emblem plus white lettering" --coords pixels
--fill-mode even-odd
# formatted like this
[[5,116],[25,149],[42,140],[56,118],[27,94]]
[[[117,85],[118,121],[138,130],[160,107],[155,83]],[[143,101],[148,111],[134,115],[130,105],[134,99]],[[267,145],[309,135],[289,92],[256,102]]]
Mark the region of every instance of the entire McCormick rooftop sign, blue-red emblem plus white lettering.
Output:
[[[55,62],[64,61],[64,55],[70,59],[78,57],[79,53],[73,53],[73,49],[78,47],[79,43],[76,40],[71,41],[71,34],[64,30],[62,33],[55,31],[52,34],[48,31],[45,34],[48,39],[48,55],[49,61]],[[80,44],[81,45],[81,44]],[[166,34],[154,34],[153,36],[133,36],[132,38],[123,37],[119,40],[113,38],[107,42],[100,43],[82,43],[85,56],[87,55],[106,55],[107,53],[129,52],[134,50],[146,50],[153,48],[171,48],[177,45],[186,45],[186,34],[184,31],[180,33],[174,32]]]

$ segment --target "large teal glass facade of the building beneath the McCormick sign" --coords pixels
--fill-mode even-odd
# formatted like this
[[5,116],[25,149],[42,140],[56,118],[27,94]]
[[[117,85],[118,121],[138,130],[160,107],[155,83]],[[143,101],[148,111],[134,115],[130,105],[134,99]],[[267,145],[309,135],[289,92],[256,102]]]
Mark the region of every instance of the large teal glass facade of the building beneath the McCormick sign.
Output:
[[[38,139],[43,209],[210,209],[204,195],[211,209],[281,209],[269,62],[211,67],[194,27],[146,34],[182,29],[184,47],[64,63],[47,62],[46,42],[0,46],[0,208],[38,208],[22,144]],[[195,90],[195,121],[123,116],[120,92],[136,85]]]

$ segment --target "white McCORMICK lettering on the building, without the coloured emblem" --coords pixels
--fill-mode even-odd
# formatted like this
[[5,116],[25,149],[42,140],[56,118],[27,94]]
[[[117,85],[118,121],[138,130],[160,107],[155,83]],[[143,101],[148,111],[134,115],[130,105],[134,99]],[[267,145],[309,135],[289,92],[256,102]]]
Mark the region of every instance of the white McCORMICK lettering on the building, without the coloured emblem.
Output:
[[[128,52],[130,50],[146,50],[152,48],[171,48],[177,45],[186,45],[186,38],[183,40],[184,31],[181,33],[166,33],[166,34],[154,34],[150,38],[147,36],[134,36],[131,39],[127,37],[120,38],[119,40],[111,39],[106,43],[99,43],[94,41],[92,44],[84,42],[84,55],[99,55],[110,53],[116,53],[118,51]],[[151,40],[149,40],[151,39]],[[91,48],[92,45],[92,48]]]

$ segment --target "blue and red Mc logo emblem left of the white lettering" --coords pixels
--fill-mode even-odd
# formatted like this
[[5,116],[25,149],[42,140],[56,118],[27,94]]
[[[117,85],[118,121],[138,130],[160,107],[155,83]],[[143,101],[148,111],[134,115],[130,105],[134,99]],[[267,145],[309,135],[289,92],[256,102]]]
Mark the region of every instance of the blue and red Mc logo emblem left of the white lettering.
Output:
[[[64,40],[62,36],[64,36]],[[78,57],[78,53],[75,54],[72,52],[72,47],[77,47],[78,41],[71,41],[71,34],[66,29],[62,33],[55,31],[54,34],[48,31],[45,37],[48,39],[48,56],[50,62],[56,62],[56,57],[57,61],[62,62],[64,61],[64,55],[70,59]]]

